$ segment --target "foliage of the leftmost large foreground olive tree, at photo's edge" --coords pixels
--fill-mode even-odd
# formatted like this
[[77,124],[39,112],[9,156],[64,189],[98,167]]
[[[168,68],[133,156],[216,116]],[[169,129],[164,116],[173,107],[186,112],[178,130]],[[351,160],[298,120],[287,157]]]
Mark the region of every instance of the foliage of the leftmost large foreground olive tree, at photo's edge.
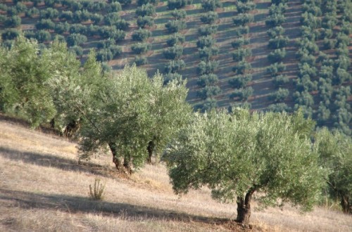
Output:
[[46,80],[53,60],[49,50],[39,55],[37,41],[20,36],[11,49],[0,48],[0,110],[29,120],[32,127],[49,122],[56,114]]

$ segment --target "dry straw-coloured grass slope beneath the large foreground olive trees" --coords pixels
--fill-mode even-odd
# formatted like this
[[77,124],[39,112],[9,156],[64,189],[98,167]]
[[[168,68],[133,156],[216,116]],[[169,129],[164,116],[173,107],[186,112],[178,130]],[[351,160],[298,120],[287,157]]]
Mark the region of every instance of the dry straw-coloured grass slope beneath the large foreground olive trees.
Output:
[[[104,200],[89,184],[106,181]],[[78,164],[77,148],[54,135],[0,121],[0,231],[241,231],[236,207],[215,202],[207,188],[180,198],[163,165],[132,177],[110,156]],[[350,216],[291,207],[252,213],[252,231],[352,231]]]

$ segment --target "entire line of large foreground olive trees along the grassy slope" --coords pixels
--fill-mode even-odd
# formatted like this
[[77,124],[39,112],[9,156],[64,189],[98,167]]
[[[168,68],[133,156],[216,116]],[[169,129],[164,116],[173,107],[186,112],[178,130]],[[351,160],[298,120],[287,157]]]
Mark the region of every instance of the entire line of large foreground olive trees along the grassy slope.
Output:
[[314,134],[301,111],[192,113],[183,82],[165,85],[161,75],[149,78],[135,66],[103,72],[94,51],[81,65],[59,41],[39,53],[36,42],[20,37],[0,48],[0,67],[1,112],[33,127],[79,125],[82,154],[109,148],[118,169],[141,167],[164,150],[175,193],[208,186],[213,198],[237,202],[240,223],[249,224],[256,193],[263,206],[291,202],[311,210],[326,188],[351,211],[351,138]]

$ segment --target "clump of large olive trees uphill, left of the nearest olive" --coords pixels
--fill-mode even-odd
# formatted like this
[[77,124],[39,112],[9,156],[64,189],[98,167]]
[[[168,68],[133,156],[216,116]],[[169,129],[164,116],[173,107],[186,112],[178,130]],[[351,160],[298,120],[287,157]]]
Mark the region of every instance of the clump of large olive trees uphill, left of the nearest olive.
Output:
[[0,53],[2,112],[32,127],[51,122],[67,134],[74,127],[82,157],[108,146],[118,169],[131,172],[160,154],[191,114],[183,82],[164,85],[137,67],[103,72],[94,51],[81,65],[64,43],[39,53],[37,42],[20,37]]

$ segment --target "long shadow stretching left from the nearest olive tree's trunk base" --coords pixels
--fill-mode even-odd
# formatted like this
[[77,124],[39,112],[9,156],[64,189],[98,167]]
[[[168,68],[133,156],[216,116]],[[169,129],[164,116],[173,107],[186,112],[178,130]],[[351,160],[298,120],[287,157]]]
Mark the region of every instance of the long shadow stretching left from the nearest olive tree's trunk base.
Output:
[[23,209],[61,210],[63,212],[96,213],[104,216],[123,217],[131,221],[141,219],[172,220],[182,222],[201,222],[206,224],[224,224],[230,219],[202,217],[192,214],[163,210],[156,207],[146,207],[127,203],[96,201],[71,195],[46,195],[26,191],[13,191],[0,188],[1,201],[15,201],[15,205]]

